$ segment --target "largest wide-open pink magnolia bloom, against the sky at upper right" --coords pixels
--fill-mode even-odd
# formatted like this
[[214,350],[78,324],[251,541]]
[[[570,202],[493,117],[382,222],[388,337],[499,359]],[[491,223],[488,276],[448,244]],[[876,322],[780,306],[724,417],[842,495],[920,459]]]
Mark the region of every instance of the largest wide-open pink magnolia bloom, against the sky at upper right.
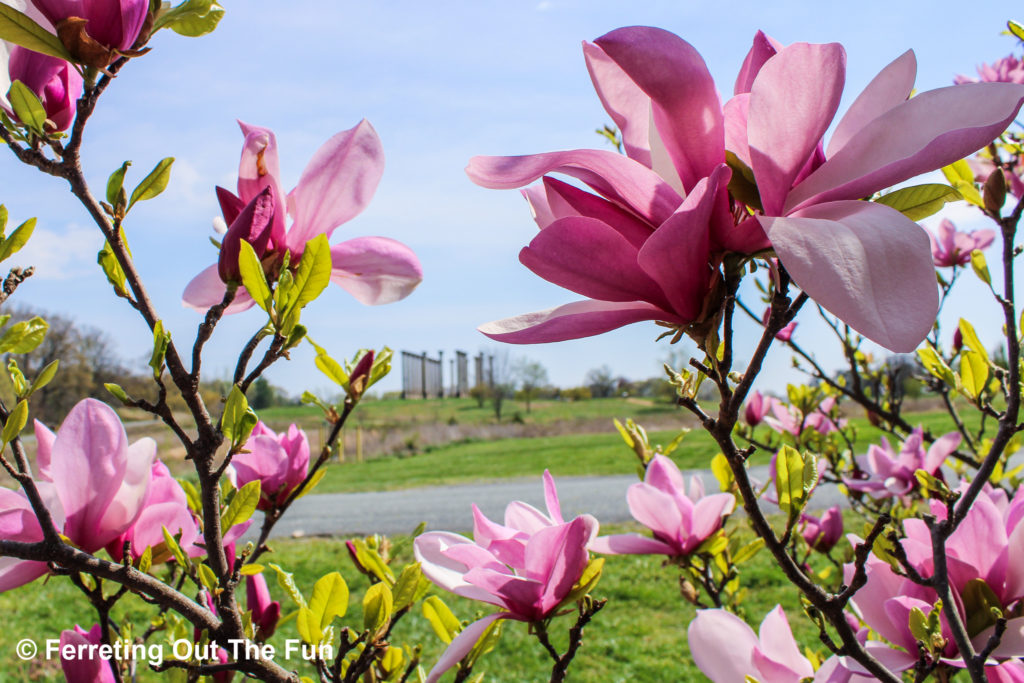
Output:
[[[699,328],[718,308],[722,254],[771,247],[798,286],[859,333],[898,351],[924,339],[938,309],[927,238],[898,211],[857,200],[987,144],[1013,121],[1024,87],[981,83],[907,99],[915,75],[907,52],[856,98],[824,146],[845,81],[838,44],[783,47],[758,34],[724,106],[700,55],[666,31],[618,29],[584,53],[626,157],[477,157],[467,172],[495,188],[545,178],[525,190],[542,229],[520,260],[589,299],[481,332],[538,343],[645,319]],[[756,184],[731,198],[757,211],[738,224],[726,151]]]

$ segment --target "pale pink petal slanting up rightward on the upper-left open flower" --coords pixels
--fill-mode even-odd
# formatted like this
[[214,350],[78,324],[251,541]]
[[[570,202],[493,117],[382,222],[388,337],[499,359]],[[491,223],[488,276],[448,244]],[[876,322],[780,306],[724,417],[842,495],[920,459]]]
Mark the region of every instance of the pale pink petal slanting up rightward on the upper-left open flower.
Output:
[[338,225],[359,215],[383,174],[384,150],[369,121],[325,142],[288,196],[295,221],[288,231],[289,248],[300,252],[317,234],[330,237]]

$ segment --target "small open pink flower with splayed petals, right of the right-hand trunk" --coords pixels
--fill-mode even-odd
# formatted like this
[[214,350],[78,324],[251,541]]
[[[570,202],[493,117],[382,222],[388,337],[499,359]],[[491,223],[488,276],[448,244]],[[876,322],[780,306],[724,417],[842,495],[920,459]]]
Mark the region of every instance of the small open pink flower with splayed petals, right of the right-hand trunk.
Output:
[[961,435],[950,432],[935,439],[926,453],[922,428],[918,427],[900,444],[899,453],[896,453],[883,436],[882,445],[872,443],[868,446],[866,456],[855,459],[860,477],[844,477],[843,481],[852,490],[869,494],[872,498],[907,496],[918,485],[913,473],[925,470],[929,474],[936,474],[959,442]]

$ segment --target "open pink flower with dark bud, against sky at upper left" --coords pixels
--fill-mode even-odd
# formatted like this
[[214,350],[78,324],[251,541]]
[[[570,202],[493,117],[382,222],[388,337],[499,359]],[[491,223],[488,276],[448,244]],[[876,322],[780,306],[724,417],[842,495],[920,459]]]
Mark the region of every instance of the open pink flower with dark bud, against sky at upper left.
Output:
[[[299,183],[285,195],[281,186],[278,142],[266,128],[239,123],[245,135],[239,164],[238,196],[217,188],[224,221],[224,236],[217,264],[203,270],[185,288],[182,303],[206,310],[220,303],[225,280],[237,280],[239,247],[249,242],[261,259],[281,259],[291,253],[298,264],[306,243],[318,234],[328,237],[342,223],[367,207],[384,171],[384,153],[377,132],[362,121],[338,133],[313,155]],[[286,229],[285,213],[292,216]],[[416,255],[400,242],[388,238],[355,238],[331,247],[331,282],[360,303],[391,303],[409,296],[420,284],[423,271]],[[226,312],[253,305],[240,288]]]

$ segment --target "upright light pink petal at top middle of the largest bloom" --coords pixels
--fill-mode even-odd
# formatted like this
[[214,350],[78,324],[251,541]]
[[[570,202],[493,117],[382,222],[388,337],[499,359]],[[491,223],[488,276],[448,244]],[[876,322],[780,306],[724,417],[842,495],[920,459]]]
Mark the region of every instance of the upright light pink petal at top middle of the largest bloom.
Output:
[[839,43],[796,43],[765,62],[751,88],[751,168],[765,213],[782,204],[831,123],[843,95],[846,52]]

